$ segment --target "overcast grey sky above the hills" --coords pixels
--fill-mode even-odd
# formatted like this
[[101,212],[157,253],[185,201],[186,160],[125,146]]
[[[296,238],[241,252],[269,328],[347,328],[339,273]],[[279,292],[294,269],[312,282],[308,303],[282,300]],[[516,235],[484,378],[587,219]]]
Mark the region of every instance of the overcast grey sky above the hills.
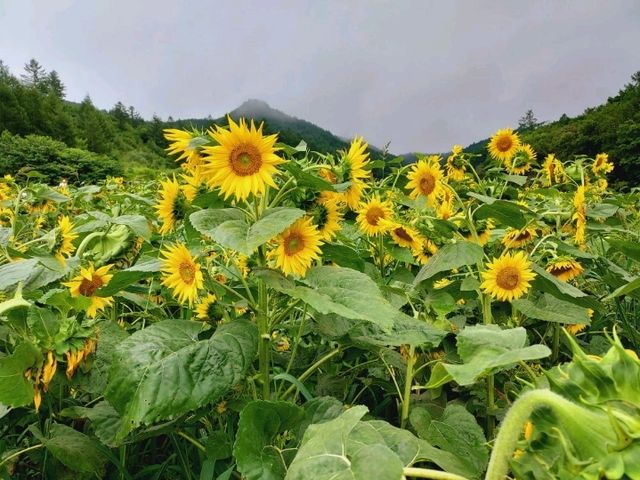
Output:
[[259,98],[396,153],[579,114],[639,46],[639,0],[0,0],[0,59],[35,57],[70,100],[166,119]]

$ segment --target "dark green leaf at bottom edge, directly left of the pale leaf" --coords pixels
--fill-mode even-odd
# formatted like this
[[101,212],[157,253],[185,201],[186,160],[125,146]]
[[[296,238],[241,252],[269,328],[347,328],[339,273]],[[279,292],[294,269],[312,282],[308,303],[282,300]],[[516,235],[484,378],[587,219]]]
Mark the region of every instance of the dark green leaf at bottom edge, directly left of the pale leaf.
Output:
[[293,431],[304,410],[288,402],[257,400],[240,412],[233,455],[238,471],[249,480],[277,480],[285,476],[284,446],[278,439]]

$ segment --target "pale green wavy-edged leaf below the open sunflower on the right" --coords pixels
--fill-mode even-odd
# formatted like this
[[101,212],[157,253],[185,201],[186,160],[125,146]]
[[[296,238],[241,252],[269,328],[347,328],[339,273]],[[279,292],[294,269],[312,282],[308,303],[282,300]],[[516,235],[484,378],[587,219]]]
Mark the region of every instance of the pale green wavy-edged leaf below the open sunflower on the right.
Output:
[[502,330],[497,325],[474,325],[457,336],[462,365],[442,364],[459,385],[471,385],[483,375],[510,368],[521,360],[547,357],[544,345],[525,346],[527,331],[522,328]]

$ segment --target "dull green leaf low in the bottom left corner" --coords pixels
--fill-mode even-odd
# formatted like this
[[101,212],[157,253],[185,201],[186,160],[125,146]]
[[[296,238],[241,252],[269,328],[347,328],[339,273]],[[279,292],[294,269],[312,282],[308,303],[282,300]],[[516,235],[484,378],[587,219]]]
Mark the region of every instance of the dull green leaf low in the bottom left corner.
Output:
[[49,437],[42,436],[35,428],[31,431],[67,468],[75,472],[91,473],[97,478],[103,477],[106,458],[91,437],[59,423],[51,425]]

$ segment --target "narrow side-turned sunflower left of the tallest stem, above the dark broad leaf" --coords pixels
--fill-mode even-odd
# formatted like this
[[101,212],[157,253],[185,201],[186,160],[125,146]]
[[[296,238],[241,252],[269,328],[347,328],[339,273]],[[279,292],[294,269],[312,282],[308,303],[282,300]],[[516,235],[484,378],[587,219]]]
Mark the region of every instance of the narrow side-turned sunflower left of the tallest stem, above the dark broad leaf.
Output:
[[189,302],[189,306],[198,296],[202,288],[202,272],[189,250],[184,244],[177,243],[160,252],[164,257],[162,267],[162,284],[173,289],[173,295],[180,303]]

